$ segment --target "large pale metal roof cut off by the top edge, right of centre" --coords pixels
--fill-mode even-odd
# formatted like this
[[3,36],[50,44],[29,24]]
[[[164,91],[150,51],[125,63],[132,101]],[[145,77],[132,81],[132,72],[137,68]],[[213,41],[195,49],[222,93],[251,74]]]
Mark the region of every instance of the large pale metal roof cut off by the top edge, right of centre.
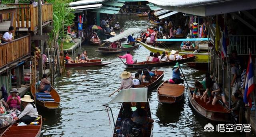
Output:
[[175,7],[188,7],[188,6],[202,6],[208,4],[222,3],[232,0],[147,0],[150,3],[159,6],[175,6]]

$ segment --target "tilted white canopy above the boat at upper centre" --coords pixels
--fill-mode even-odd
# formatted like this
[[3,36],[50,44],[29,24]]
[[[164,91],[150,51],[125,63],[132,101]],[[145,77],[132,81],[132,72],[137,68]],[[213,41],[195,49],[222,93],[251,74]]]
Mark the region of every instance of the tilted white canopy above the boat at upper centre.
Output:
[[121,34],[118,34],[114,37],[111,37],[109,39],[106,39],[106,40],[103,40],[103,41],[109,41],[109,42],[114,42],[114,41],[118,41],[119,39],[122,39],[124,37],[127,37],[129,35],[132,35],[138,31],[140,31],[141,29],[138,29],[138,28],[129,28],[127,29],[126,31],[124,31],[123,33]]

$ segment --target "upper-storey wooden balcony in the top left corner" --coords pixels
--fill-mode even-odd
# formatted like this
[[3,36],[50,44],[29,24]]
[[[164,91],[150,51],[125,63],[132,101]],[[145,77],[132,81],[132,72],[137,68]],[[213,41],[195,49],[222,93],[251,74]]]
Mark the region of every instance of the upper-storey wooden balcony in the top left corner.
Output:
[[[38,29],[38,7],[32,4],[7,4],[16,7],[16,13],[2,14],[4,22],[0,23],[0,31],[8,31],[13,25],[15,31],[36,31]],[[11,23],[13,16],[13,21]],[[42,4],[43,27],[53,22],[52,4]]]

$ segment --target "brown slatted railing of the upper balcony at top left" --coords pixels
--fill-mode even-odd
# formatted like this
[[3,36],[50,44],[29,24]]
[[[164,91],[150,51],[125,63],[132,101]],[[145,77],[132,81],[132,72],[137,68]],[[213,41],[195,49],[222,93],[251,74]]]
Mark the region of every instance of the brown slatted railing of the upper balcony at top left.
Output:
[[[38,7],[32,4],[8,4],[7,6],[19,7],[14,19],[16,29],[26,28],[34,31],[38,26]],[[52,4],[42,4],[42,23],[53,19]],[[4,20],[10,20],[9,14],[4,14]]]

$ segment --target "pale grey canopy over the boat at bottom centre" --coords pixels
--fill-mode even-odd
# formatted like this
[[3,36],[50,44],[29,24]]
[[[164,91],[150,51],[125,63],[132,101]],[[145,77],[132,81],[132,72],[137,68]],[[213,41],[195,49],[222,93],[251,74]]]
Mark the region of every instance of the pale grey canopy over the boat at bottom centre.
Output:
[[103,106],[122,102],[148,102],[148,88],[130,88],[120,90],[115,98]]

